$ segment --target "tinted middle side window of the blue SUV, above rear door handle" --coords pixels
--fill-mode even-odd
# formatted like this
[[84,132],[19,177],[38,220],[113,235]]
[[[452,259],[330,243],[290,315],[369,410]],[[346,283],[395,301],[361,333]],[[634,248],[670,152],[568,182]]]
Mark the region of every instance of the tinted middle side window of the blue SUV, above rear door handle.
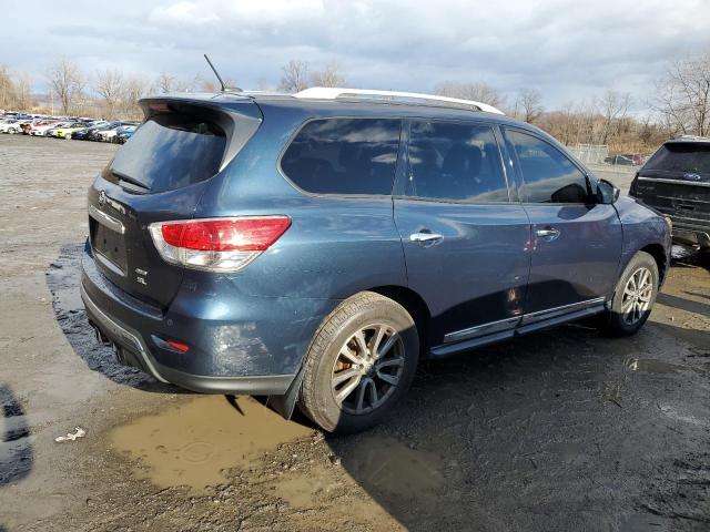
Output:
[[408,196],[470,203],[507,202],[493,130],[484,125],[413,122]]

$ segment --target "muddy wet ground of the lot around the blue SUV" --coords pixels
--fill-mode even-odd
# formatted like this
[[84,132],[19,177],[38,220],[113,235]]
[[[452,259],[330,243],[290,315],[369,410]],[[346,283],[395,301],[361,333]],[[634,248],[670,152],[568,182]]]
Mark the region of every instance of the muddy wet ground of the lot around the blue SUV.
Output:
[[0,135],[0,531],[710,530],[700,257],[633,338],[566,326],[427,364],[387,423],[324,437],[94,344],[84,192],[113,151]]

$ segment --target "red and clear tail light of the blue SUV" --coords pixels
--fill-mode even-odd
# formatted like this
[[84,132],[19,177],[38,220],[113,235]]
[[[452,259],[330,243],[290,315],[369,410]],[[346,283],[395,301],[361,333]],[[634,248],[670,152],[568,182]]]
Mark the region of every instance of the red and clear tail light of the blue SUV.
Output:
[[164,260],[210,272],[236,272],[268,249],[291,226],[288,216],[158,222],[149,229]]

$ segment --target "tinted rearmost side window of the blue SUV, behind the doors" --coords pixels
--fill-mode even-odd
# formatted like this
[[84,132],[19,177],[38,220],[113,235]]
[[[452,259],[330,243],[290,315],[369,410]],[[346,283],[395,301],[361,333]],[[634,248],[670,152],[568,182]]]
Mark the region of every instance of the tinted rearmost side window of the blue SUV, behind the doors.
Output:
[[392,119],[314,120],[291,143],[281,168],[315,194],[392,194],[399,129]]

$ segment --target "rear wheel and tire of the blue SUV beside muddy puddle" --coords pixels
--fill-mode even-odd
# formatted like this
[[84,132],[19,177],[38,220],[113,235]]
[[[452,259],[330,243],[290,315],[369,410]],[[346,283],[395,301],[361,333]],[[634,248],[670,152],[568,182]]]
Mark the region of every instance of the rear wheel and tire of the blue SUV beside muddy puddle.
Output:
[[379,294],[356,294],[318,327],[304,360],[298,408],[328,432],[368,429],[404,397],[418,358],[409,313]]

